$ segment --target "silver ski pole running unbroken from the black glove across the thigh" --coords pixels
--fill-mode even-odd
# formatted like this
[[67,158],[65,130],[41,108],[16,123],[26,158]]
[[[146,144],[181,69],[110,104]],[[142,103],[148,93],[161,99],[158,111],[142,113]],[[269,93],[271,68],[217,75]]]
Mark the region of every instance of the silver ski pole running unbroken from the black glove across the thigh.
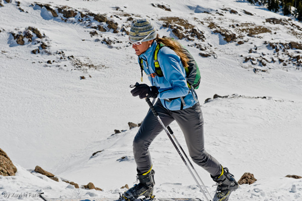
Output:
[[[181,154],[181,152],[179,151],[177,145],[175,144],[175,142],[173,141],[172,137],[170,136],[170,133],[169,133],[169,130],[172,131],[172,129],[170,128],[170,126],[168,126],[168,128],[164,125],[161,117],[159,116],[158,112],[155,110],[153,104],[151,103],[150,99],[149,98],[146,98],[146,102],[148,103],[151,111],[153,112],[153,114],[157,117],[157,119],[159,120],[160,124],[163,126],[164,130],[166,131],[169,139],[171,140],[172,144],[174,145],[176,151],[178,152],[179,156],[181,157],[181,159],[183,160],[183,162],[185,163],[186,167],[188,168],[189,172],[191,173],[193,179],[195,180],[195,182],[197,183],[198,187],[200,188],[201,192],[203,193],[204,197],[206,198],[207,201],[211,201],[208,199],[208,197],[206,196],[204,190],[202,189],[201,185],[199,184],[198,180],[196,179],[195,175],[193,174],[191,168],[189,167],[187,161],[185,160],[185,158],[183,157],[183,155]],[[173,132],[173,131],[172,131]],[[182,149],[183,150],[183,149]],[[188,157],[187,157],[187,160],[188,160]],[[190,162],[191,163],[191,162]],[[199,177],[200,178],[200,177]],[[201,179],[200,179],[201,180]],[[203,183],[203,182],[202,182]],[[204,184],[203,184],[204,185]]]

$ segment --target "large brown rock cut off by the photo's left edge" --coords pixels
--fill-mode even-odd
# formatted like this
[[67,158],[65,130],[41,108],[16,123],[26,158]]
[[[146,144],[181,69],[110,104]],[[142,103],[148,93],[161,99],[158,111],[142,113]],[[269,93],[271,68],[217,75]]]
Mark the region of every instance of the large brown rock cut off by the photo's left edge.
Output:
[[0,175],[3,176],[15,176],[17,172],[16,166],[11,161],[10,157],[0,149]]

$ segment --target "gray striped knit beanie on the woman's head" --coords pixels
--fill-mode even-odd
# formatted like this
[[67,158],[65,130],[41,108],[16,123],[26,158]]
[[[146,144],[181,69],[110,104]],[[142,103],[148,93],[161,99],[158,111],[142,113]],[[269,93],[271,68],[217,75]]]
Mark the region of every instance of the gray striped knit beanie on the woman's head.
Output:
[[129,40],[131,42],[140,41],[148,34],[150,35],[147,38],[145,38],[142,42],[153,40],[156,38],[157,33],[156,33],[155,26],[148,19],[139,19],[136,20],[131,25],[130,32],[129,32]]

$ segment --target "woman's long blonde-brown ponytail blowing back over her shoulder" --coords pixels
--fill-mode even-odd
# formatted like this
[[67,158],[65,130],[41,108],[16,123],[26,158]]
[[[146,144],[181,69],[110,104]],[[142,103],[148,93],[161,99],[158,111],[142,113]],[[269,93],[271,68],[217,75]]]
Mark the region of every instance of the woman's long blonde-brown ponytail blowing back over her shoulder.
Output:
[[184,68],[188,68],[189,67],[188,62],[190,61],[190,59],[182,51],[182,49],[184,47],[182,47],[179,42],[177,42],[173,38],[169,38],[169,37],[166,37],[166,36],[163,36],[163,38],[160,38],[159,34],[157,34],[155,40],[156,40],[157,43],[162,43],[165,46],[167,46],[170,49],[172,49],[173,51],[175,51],[175,53],[180,57],[180,60],[181,60],[181,62],[183,64]]

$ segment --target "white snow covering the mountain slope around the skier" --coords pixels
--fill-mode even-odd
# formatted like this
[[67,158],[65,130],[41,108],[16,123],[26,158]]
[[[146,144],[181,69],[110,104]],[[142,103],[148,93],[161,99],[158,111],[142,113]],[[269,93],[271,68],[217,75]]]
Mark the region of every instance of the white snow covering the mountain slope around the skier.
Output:
[[[32,0],[21,2],[25,12],[18,9],[14,0],[10,4],[0,2],[4,5],[0,7],[0,148],[18,169],[16,176],[0,176],[0,200],[39,200],[36,195],[41,192],[54,198],[117,198],[119,192],[126,190],[120,187],[125,184],[131,187],[136,180],[132,141],[138,128],[129,130],[127,122],[141,122],[148,110],[145,101],[130,94],[129,85],[140,82],[140,70],[127,35],[111,30],[97,31],[99,35],[91,36],[89,32],[96,30],[79,22],[79,15],[64,22],[60,20],[62,14],[54,18],[44,7],[34,6]],[[302,176],[301,68],[290,63],[284,66],[267,62],[261,66],[244,62],[245,57],[257,58],[263,54],[268,60],[288,59],[281,53],[277,55],[264,41],[300,43],[301,30],[297,27],[265,23],[267,18],[287,20],[289,17],[246,1],[231,0],[39,3],[107,14],[108,19],[118,23],[118,30],[121,27],[129,30],[129,16],[123,14],[130,14],[134,19],[151,18],[161,36],[175,37],[171,29],[162,26],[160,18],[188,20],[204,33],[205,41],[183,39],[181,42],[200,43],[212,55],[201,57],[199,49],[188,47],[201,71],[197,94],[205,121],[206,149],[237,180],[245,172],[253,173],[258,179],[251,185],[241,185],[230,200],[302,200],[302,179],[285,177]],[[172,12],[155,8],[152,3],[165,5]],[[230,9],[239,14],[231,14]],[[254,15],[246,15],[243,10]],[[92,26],[100,24],[91,20]],[[250,27],[268,27],[272,33],[243,35],[237,41],[248,42],[238,45],[225,42],[221,34],[213,33],[208,27],[211,22],[230,32],[238,31],[230,25],[250,23]],[[290,23],[302,27],[294,19]],[[33,38],[33,42],[26,40],[25,45],[18,45],[10,33],[23,32],[29,26],[38,28],[45,38]],[[239,36],[240,32],[236,34]],[[101,42],[104,38],[120,43],[106,45]],[[48,45],[46,51],[31,53],[41,41]],[[60,51],[64,53],[57,53]],[[288,52],[302,55],[298,49]],[[64,58],[60,59],[61,56]],[[48,60],[52,63],[48,64]],[[82,68],[76,68],[74,63],[81,63]],[[91,64],[96,69],[89,68]],[[254,73],[254,68],[267,72]],[[80,76],[86,79],[80,80]],[[146,76],[143,83],[148,84]],[[204,103],[214,94],[230,96]],[[187,150],[177,123],[170,126]],[[114,129],[125,131],[112,136]],[[157,197],[204,199],[165,132],[149,149],[156,171]],[[102,152],[92,157],[97,151]],[[55,174],[59,182],[33,172],[36,165]],[[214,182],[202,168],[196,165],[195,168],[213,195]],[[76,189],[62,180],[80,186],[93,182],[103,191]],[[9,194],[16,196],[8,198]]]

